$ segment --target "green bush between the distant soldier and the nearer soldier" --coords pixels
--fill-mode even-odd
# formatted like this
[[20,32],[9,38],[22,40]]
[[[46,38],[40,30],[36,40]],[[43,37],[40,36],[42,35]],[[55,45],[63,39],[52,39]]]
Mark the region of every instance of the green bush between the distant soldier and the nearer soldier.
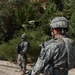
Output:
[[34,31],[32,29],[26,30],[25,33],[27,34],[27,40],[30,42],[28,57],[30,57],[32,61],[36,61],[40,53],[40,45],[46,40],[45,37],[47,35],[44,34],[41,27],[38,27],[36,30],[34,29]]

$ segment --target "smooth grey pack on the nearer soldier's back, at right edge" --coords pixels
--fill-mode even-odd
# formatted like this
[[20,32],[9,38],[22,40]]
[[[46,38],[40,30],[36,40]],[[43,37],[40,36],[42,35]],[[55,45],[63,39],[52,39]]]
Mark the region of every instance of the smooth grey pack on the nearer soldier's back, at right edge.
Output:
[[72,69],[75,66],[75,47],[71,43],[71,39],[63,38],[67,50],[67,67]]

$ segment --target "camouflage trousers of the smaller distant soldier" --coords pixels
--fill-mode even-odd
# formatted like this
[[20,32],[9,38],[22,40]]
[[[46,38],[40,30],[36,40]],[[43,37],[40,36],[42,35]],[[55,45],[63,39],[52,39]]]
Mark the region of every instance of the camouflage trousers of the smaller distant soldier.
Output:
[[20,66],[20,68],[23,70],[23,74],[25,74],[26,72],[26,56],[25,55],[21,55],[18,54],[18,65]]

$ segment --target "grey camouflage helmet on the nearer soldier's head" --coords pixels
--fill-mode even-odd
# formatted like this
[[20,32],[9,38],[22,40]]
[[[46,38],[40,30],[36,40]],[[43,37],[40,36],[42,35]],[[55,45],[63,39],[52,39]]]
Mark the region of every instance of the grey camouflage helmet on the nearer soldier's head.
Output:
[[56,17],[51,21],[50,28],[62,28],[68,30],[68,20],[65,17]]

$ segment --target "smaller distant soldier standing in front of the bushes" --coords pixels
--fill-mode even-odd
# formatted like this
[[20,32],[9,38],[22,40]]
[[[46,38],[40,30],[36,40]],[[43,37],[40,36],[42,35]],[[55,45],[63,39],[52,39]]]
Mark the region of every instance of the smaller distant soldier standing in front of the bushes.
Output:
[[26,34],[22,34],[21,36],[21,42],[17,46],[17,62],[20,66],[21,70],[23,71],[23,74],[26,72],[26,60],[27,60],[27,52],[30,48],[30,43],[26,40]]

